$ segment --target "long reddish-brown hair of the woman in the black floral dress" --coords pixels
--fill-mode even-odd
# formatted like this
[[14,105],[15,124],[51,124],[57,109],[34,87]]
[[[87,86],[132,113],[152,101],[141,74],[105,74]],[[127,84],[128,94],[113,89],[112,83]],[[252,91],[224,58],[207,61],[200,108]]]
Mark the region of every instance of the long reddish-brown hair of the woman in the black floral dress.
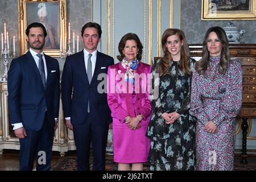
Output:
[[169,72],[170,64],[172,60],[171,53],[168,51],[166,47],[166,42],[169,36],[177,35],[180,41],[183,41],[183,46],[180,50],[180,70],[188,75],[191,74],[191,69],[189,68],[189,57],[188,57],[188,49],[187,49],[187,41],[185,38],[185,34],[182,30],[176,28],[167,28],[162,35],[162,49],[164,53],[164,57],[162,61],[160,61],[160,76],[166,75]]

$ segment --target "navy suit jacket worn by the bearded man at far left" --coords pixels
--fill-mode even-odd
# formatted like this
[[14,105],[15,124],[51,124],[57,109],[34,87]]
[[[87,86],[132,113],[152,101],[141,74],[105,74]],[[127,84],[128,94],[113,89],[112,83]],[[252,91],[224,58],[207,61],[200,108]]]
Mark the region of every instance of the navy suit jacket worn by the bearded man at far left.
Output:
[[60,70],[56,59],[46,58],[47,80],[44,90],[38,67],[30,51],[11,61],[8,71],[9,122],[22,122],[26,130],[41,129],[46,114],[55,126],[59,115]]

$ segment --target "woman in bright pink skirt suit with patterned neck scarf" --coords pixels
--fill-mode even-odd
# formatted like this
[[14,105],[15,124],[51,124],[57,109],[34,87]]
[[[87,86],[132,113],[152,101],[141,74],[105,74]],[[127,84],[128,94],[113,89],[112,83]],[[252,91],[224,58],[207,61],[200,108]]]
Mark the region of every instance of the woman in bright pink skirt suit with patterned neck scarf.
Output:
[[144,64],[142,43],[128,33],[118,45],[119,63],[108,68],[108,104],[113,117],[114,162],[118,170],[143,170],[150,139],[145,134],[151,117],[151,65]]

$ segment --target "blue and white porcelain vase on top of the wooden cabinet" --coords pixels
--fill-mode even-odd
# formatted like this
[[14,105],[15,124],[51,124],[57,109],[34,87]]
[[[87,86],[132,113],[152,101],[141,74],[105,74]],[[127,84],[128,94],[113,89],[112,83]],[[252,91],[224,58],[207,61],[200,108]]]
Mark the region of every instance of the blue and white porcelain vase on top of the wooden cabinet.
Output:
[[241,43],[241,36],[245,33],[245,30],[238,31],[237,27],[231,21],[223,28],[228,37],[229,43]]

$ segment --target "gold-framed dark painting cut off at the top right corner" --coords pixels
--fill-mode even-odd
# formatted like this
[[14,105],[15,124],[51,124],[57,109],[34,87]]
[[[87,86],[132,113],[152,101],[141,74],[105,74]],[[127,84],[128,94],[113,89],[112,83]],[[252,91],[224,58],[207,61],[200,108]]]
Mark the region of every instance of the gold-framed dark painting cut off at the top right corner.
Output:
[[202,0],[202,20],[256,19],[256,0]]

